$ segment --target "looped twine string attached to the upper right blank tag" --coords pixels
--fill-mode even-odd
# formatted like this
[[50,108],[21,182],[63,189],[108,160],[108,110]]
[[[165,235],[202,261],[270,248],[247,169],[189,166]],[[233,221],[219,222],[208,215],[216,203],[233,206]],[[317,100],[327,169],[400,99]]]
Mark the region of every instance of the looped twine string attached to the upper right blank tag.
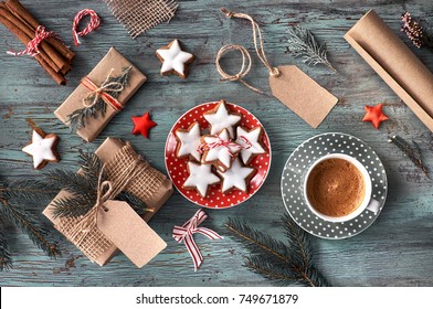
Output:
[[[267,61],[267,57],[265,54],[265,49],[263,46],[262,31],[261,31],[257,22],[252,17],[250,17],[247,14],[232,12],[225,8],[221,8],[221,12],[224,13],[228,18],[239,18],[239,19],[246,19],[246,20],[251,21],[251,24],[253,26],[254,47],[255,47],[255,52],[257,53],[258,58],[266,66],[271,76],[279,76],[278,68],[275,66],[272,66],[270,64],[270,62]],[[257,40],[257,36],[258,36],[258,40]],[[231,50],[237,50],[242,54],[242,67],[239,71],[239,73],[235,75],[230,75],[230,74],[225,73],[221,68],[221,65],[220,65],[220,60],[221,60],[222,55]],[[245,66],[246,63],[247,63],[247,65]],[[222,46],[216,54],[215,64],[216,64],[218,73],[220,73],[220,75],[223,77],[223,78],[221,78],[221,81],[239,81],[242,84],[244,84],[246,87],[249,87],[250,89],[252,89],[256,93],[263,94],[263,90],[251,86],[250,84],[247,84],[245,81],[242,79],[243,77],[246,76],[246,74],[249,74],[249,72],[251,70],[251,56],[250,56],[249,51],[244,46],[235,45],[235,44],[229,44],[229,45]]]

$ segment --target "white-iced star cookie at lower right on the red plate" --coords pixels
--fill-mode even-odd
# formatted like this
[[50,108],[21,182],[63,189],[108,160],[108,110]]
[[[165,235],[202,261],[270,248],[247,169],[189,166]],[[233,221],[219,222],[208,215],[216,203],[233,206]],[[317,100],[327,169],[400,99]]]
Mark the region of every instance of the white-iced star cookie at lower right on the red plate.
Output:
[[244,167],[239,158],[232,162],[230,170],[225,172],[216,171],[222,178],[221,191],[229,193],[231,190],[237,189],[247,193],[250,180],[255,174],[255,169],[252,167]]

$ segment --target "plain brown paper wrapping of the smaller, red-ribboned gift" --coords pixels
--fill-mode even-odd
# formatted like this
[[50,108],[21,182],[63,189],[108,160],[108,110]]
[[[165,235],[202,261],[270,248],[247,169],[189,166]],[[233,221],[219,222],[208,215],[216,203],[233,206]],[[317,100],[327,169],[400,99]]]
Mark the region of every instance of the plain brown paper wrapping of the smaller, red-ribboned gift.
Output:
[[[119,52],[114,47],[110,47],[108,53],[102,58],[102,61],[88,73],[87,77],[96,85],[101,85],[110,70],[114,68],[113,75],[120,75],[124,67],[133,66],[129,72],[128,84],[122,90],[118,96],[118,102],[125,105],[129,98],[138,90],[138,88],[146,82],[146,76],[137,67],[135,67],[129,61],[127,61]],[[88,95],[89,90],[80,84],[75,90],[66,98],[66,100],[54,111],[63,124],[67,124],[67,116],[76,109],[83,108],[83,99]],[[104,127],[112,120],[116,115],[116,110],[107,105],[107,110],[104,117],[98,114],[97,118],[88,117],[85,119],[85,127],[77,130],[76,134],[86,141],[93,141],[104,129]]]

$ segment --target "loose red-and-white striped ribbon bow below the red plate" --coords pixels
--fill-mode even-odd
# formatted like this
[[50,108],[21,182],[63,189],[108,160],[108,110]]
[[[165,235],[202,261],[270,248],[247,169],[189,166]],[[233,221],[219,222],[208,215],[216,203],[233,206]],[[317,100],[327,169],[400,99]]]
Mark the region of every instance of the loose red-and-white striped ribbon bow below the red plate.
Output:
[[218,233],[213,232],[207,227],[198,227],[208,215],[203,210],[199,210],[190,220],[188,220],[182,226],[175,225],[173,227],[173,238],[176,242],[184,243],[188,252],[191,255],[192,262],[194,263],[194,271],[200,267],[203,262],[203,256],[201,255],[199,247],[196,245],[196,242],[192,237],[193,234],[200,233],[207,236],[210,239],[222,239]]

